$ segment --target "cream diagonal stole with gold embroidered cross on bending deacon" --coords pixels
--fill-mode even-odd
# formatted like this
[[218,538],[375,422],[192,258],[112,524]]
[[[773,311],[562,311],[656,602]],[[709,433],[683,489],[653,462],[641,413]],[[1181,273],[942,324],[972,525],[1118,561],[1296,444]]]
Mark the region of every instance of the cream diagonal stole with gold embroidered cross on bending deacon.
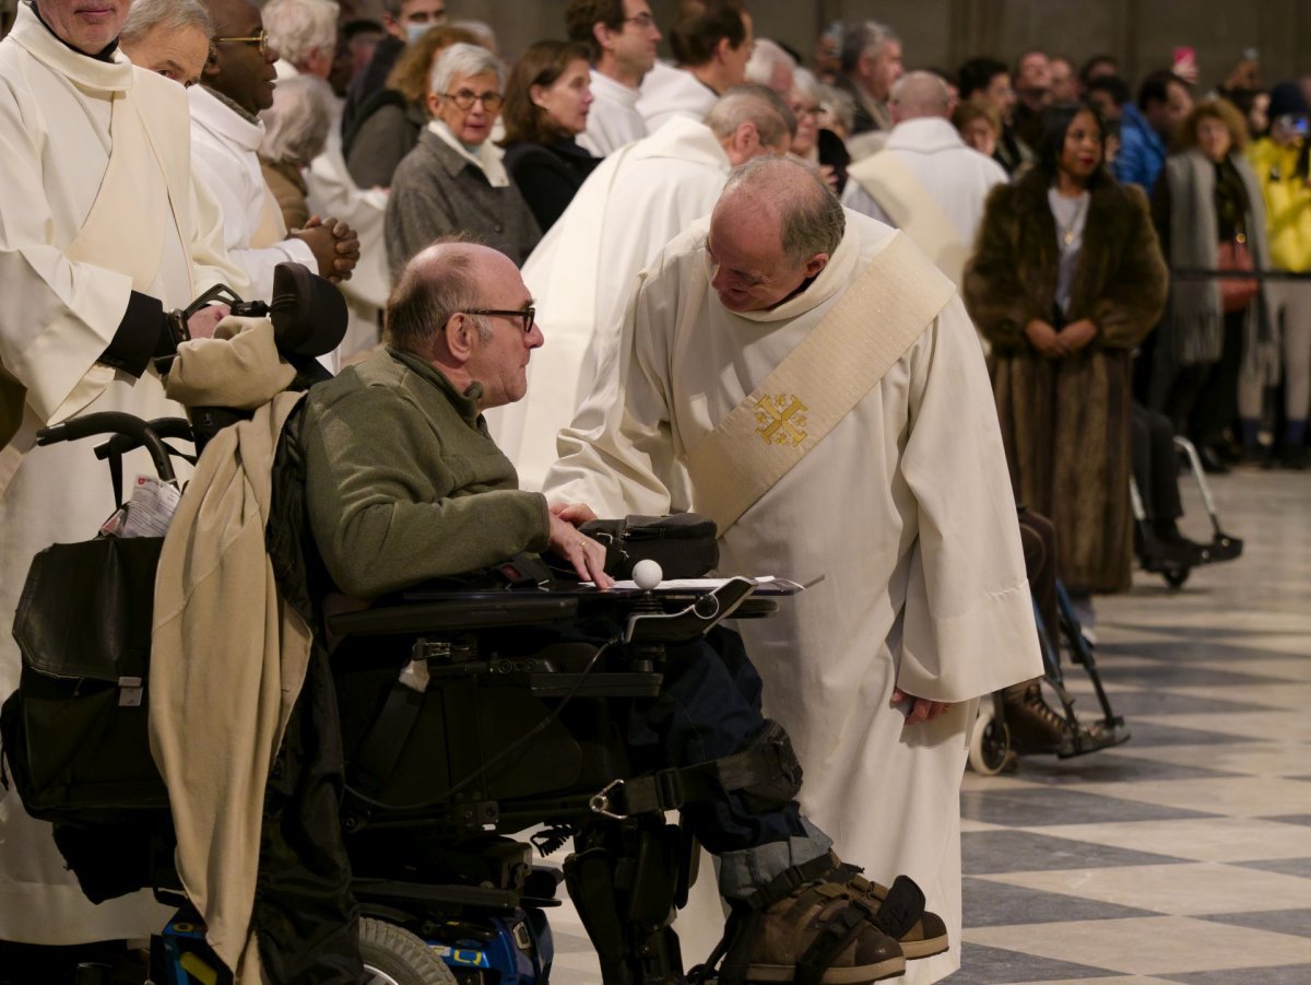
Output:
[[954,294],[897,235],[787,358],[687,458],[720,536],[815,447]]

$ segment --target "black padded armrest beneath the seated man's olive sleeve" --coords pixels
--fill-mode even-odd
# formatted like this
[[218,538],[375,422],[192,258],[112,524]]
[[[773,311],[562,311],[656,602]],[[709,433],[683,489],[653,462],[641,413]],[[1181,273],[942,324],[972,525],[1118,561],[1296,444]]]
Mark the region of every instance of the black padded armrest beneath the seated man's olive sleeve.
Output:
[[497,598],[451,598],[389,605],[326,616],[334,636],[391,636],[413,632],[465,632],[506,626],[540,626],[578,611],[574,598],[502,593]]

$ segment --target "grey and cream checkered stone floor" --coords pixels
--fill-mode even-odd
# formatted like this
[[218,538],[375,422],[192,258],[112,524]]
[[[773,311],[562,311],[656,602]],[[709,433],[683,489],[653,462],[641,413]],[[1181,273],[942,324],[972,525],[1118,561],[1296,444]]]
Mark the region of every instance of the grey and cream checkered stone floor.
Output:
[[[1238,561],[1097,603],[1133,740],[966,774],[960,985],[1311,984],[1311,475],[1211,481]],[[1184,526],[1209,538],[1185,481]],[[1076,707],[1096,699],[1070,672]],[[840,846],[839,846],[840,847]],[[556,978],[599,982],[569,912]]]

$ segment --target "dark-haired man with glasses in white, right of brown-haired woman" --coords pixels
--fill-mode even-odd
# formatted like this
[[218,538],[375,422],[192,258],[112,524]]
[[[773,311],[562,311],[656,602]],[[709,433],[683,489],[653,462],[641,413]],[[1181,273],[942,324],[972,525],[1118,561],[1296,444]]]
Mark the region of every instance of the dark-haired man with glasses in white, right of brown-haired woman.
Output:
[[578,143],[606,157],[646,136],[637,97],[656,64],[659,28],[646,0],[569,0],[565,28],[570,41],[591,52],[593,104]]

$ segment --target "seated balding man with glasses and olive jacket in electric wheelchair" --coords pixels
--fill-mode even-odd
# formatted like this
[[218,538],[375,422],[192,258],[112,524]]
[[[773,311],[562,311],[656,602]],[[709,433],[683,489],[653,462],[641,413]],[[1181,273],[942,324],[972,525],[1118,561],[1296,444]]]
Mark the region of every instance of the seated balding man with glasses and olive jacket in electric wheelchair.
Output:
[[[543,344],[514,264],[467,243],[423,251],[388,303],[385,341],[311,390],[299,426],[309,527],[336,586],[374,599],[549,552],[578,580],[611,588],[604,546],[579,530],[591,510],[549,509],[543,496],[519,491],[481,418],[523,397],[530,357]],[[612,630],[579,619],[520,632],[507,647],[604,648]],[[346,643],[334,666],[363,660]],[[734,913],[724,981],[874,981],[901,973],[907,956],[945,950],[943,925],[923,912],[912,883],[899,880],[884,901],[889,891],[842,867],[830,838],[800,813],[800,766],[783,729],[762,717],[760,681],[735,633],[669,645],[661,669],[658,695],[628,702],[620,723],[633,765],[691,767],[775,750],[755,759],[773,763],[772,775],[758,766],[683,808],[684,826],[718,856],[720,891]],[[347,706],[358,695],[342,679],[349,758]],[[579,901],[579,915],[606,968],[606,914]]]

